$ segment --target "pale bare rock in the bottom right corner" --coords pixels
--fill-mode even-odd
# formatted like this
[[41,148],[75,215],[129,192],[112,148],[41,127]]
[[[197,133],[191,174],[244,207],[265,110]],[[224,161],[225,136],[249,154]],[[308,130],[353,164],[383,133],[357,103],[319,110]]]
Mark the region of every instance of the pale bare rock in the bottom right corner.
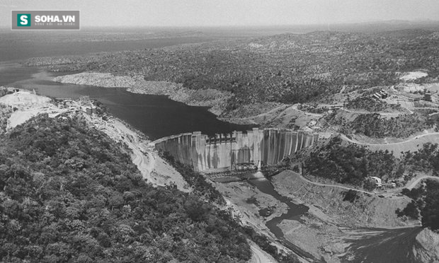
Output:
[[428,228],[418,233],[413,253],[416,262],[439,262],[439,233]]

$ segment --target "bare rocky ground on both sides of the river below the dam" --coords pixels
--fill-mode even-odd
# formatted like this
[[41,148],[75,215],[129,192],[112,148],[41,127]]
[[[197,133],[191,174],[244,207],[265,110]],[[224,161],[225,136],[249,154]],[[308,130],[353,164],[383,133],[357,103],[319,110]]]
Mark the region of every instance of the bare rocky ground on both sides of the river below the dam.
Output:
[[[352,204],[343,201],[342,193],[347,189],[316,185],[290,171],[275,175],[272,182],[280,194],[292,198],[295,204],[309,206],[309,211],[299,220],[285,219],[278,226],[288,241],[315,259],[345,262],[355,257],[350,247],[358,240],[385,235],[392,229],[405,231],[418,227],[418,221],[404,222],[394,213],[409,202],[408,197],[382,199],[361,194],[360,201]],[[215,187],[227,197],[241,222],[276,239],[266,222],[285,213],[285,204],[247,182],[216,183]],[[258,214],[268,207],[273,207],[273,214],[268,217]]]

